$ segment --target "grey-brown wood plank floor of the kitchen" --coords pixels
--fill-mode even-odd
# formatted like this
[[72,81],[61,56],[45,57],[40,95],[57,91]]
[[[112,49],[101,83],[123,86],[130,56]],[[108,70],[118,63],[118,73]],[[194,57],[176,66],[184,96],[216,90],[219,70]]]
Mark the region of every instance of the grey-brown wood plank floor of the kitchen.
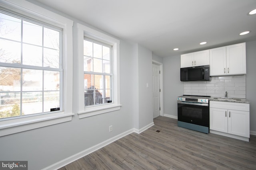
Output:
[[256,170],[254,135],[245,142],[204,134],[161,116],[154,124],[59,170]]

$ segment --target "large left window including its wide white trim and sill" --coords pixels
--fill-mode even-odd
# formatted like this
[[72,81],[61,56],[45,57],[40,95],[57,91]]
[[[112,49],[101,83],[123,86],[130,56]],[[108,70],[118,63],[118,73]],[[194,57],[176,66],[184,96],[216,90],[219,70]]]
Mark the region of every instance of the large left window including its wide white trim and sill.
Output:
[[0,136],[71,121],[73,21],[26,0],[0,18]]

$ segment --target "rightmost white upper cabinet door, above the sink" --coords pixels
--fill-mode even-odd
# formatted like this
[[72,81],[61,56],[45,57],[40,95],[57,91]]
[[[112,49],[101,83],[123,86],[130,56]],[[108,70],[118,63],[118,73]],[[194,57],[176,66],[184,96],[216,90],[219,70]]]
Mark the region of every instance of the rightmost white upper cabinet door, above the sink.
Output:
[[229,45],[227,51],[227,74],[246,74],[245,43]]

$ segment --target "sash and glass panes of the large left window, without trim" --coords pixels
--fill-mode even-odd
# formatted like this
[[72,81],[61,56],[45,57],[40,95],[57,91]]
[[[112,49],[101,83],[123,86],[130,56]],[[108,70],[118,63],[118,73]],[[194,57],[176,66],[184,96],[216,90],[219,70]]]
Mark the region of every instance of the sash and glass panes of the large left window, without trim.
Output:
[[0,119],[62,109],[62,30],[0,12]]

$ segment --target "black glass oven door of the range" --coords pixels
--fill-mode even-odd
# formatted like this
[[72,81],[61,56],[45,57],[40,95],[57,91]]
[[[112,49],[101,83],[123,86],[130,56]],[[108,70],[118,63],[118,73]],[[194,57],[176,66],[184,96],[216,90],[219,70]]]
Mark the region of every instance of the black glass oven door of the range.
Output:
[[209,126],[209,105],[178,101],[178,121]]

